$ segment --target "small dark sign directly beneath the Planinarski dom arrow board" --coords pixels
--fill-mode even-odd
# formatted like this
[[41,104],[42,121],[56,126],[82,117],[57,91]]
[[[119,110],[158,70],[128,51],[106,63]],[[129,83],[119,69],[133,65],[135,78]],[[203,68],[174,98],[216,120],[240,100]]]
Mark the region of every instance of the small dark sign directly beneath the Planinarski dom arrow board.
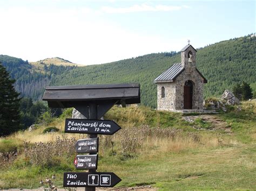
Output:
[[79,139],[75,144],[77,153],[98,152],[99,138]]

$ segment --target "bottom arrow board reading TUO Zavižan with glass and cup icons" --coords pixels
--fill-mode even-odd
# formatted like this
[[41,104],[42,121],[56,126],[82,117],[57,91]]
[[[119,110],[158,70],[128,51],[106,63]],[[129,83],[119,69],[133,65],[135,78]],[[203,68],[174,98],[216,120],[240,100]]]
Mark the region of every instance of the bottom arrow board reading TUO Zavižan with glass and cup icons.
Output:
[[112,172],[65,172],[63,187],[113,187],[120,181]]

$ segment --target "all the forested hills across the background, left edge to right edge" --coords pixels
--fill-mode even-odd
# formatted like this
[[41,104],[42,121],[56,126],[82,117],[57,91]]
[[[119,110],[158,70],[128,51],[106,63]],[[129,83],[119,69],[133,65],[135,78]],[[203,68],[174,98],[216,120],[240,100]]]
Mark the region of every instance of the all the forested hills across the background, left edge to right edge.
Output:
[[[204,95],[220,96],[235,83],[256,82],[255,37],[221,41],[199,48],[197,68],[206,77]],[[185,46],[185,45],[184,45]],[[153,53],[137,58],[102,65],[55,66],[0,55],[0,62],[16,79],[15,88],[23,96],[41,98],[45,86],[137,82],[141,86],[142,104],[156,107],[157,90],[153,80],[173,63],[180,62],[180,53]]]

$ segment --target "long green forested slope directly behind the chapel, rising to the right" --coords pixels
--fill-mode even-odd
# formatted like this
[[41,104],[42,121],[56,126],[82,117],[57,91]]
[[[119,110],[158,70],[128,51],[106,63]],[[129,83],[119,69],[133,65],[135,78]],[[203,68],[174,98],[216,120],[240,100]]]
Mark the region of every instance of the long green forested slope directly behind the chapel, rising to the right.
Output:
[[[197,68],[208,80],[205,84],[205,97],[220,96],[225,89],[232,89],[237,82],[256,82],[255,39],[246,36],[198,49]],[[51,85],[138,82],[141,86],[142,103],[156,107],[157,90],[153,80],[178,62],[180,53],[149,54],[75,68],[54,77]]]

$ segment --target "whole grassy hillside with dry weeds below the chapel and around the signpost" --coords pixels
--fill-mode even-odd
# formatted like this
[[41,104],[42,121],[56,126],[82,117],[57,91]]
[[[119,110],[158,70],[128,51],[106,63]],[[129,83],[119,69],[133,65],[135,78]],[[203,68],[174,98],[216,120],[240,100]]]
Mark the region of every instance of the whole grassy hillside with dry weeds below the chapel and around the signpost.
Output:
[[[146,107],[113,107],[105,119],[113,119],[122,129],[113,136],[99,136],[98,172],[120,176],[117,187],[253,190],[256,102],[242,102],[239,107],[193,116]],[[74,145],[86,135],[63,133],[64,119],[71,111],[31,132],[0,139],[0,152],[5,152],[0,154],[0,188],[38,188],[40,180],[53,174],[54,185],[61,188],[63,173],[78,171],[73,165]],[[193,122],[185,121],[187,117]],[[60,131],[43,133],[49,126]]]

